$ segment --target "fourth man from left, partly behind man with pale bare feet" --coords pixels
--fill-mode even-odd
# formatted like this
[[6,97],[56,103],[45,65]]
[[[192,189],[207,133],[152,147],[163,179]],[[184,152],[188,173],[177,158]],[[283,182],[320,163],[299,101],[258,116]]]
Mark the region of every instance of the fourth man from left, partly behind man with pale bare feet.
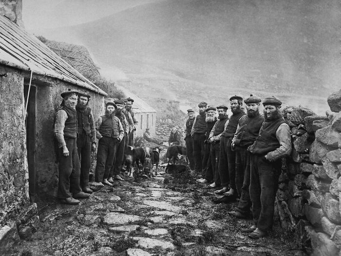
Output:
[[[129,123],[127,121],[126,116],[123,113],[124,109],[124,101],[123,100],[115,100],[114,104],[116,104],[116,110],[114,112],[115,117],[117,117],[122,125],[124,130],[124,135],[122,140],[116,144],[116,154],[114,155],[114,162],[110,169],[109,179],[108,182],[113,183],[113,177],[115,180],[124,181],[119,175],[121,174],[121,168],[123,163],[123,157],[125,152],[125,145],[127,142],[129,129]],[[129,112],[127,111],[129,114]]]

